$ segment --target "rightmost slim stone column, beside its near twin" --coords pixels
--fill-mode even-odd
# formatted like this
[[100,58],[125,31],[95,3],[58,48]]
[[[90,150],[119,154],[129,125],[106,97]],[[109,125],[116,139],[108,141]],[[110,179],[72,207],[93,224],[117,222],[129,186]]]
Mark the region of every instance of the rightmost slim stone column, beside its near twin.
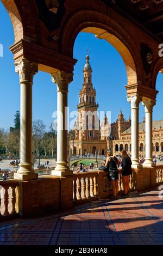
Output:
[[152,112],[155,100],[146,98],[142,101],[146,112],[146,161],[144,166],[154,166],[152,159]]

